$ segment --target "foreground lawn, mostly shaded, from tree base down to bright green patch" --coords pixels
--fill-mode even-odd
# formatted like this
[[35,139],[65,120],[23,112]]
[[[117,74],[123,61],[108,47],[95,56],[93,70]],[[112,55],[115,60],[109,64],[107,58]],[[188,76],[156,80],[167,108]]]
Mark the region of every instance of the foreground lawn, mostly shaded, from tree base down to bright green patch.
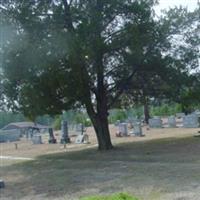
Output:
[[200,199],[200,138],[40,156],[0,168],[0,177],[6,183],[1,200],[79,200],[120,192],[139,200]]

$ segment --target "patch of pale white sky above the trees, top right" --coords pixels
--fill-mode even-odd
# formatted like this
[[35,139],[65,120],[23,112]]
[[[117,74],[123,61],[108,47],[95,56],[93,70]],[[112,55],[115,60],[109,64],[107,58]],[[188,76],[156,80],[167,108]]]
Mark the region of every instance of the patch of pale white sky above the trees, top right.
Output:
[[162,9],[173,8],[174,6],[186,6],[190,11],[197,7],[198,0],[159,0],[159,6],[156,6],[157,14],[160,13]]

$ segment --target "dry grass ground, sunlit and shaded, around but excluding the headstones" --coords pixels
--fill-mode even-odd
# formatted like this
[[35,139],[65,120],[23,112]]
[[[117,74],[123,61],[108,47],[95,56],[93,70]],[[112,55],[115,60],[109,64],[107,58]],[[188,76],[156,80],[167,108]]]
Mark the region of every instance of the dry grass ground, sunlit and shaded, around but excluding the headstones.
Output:
[[[168,118],[162,120],[167,123]],[[130,128],[127,129],[128,132],[132,131]],[[157,200],[153,194],[162,198],[169,197],[169,199],[173,195],[181,197],[183,192],[180,191],[183,186],[192,191],[194,193],[192,197],[196,198],[195,194],[198,194],[199,187],[189,176],[188,167],[192,168],[193,173],[196,174],[195,177],[198,178],[199,168],[195,160],[198,159],[200,146],[199,139],[194,139],[193,135],[199,129],[184,127],[147,129],[144,125],[142,126],[144,137],[137,136],[137,133],[141,131],[140,126],[135,129],[133,130],[136,131],[134,136],[129,132],[130,136],[116,137],[118,127],[110,125],[111,137],[116,150],[109,154],[95,151],[97,141],[92,127],[88,127],[84,132],[89,137],[89,143],[86,144],[76,141],[79,136],[82,136],[82,132],[75,136],[74,133],[70,135],[70,131],[68,132],[70,143],[66,143],[66,146],[61,143],[62,131],[53,132],[54,139],[57,140],[53,144],[49,143],[48,132],[42,134],[42,144],[35,145],[32,140],[27,140],[25,137],[20,141],[1,143],[1,155],[10,156],[10,159],[1,158],[0,176],[4,181],[3,188],[0,189],[2,199],[13,199],[13,195],[17,195],[19,199],[33,198],[33,196],[39,199],[43,194],[42,199],[44,200],[49,199],[48,195],[52,196],[52,200],[60,199],[53,193],[59,190],[63,198],[79,200],[81,196],[95,195],[98,192],[96,185],[98,185],[98,190],[102,191],[109,188],[108,193],[118,193],[119,190],[123,191],[123,188],[126,188],[126,192],[140,198],[152,195],[152,200]],[[14,145],[16,142],[17,149]],[[173,151],[178,153],[174,154]],[[32,158],[34,160],[12,160],[12,158]],[[47,162],[48,165],[46,165]],[[65,167],[62,168],[62,165]],[[148,166],[151,167],[147,169]],[[37,172],[38,169],[40,172]],[[152,182],[149,173],[156,182]],[[164,180],[162,180],[163,176]],[[182,177],[172,180],[170,176]],[[55,179],[56,185],[51,184],[51,181]],[[17,185],[13,183],[14,180],[18,181]],[[87,185],[84,185],[84,181],[87,181]],[[192,185],[187,185],[188,182]],[[112,183],[111,188],[110,183]],[[174,189],[161,192],[166,189],[165,185],[172,187],[176,185],[176,189],[174,187]],[[30,188],[26,189],[27,186]],[[20,188],[20,192],[17,188]],[[32,193],[33,190],[34,193]],[[98,193],[104,194],[104,192]],[[190,193],[185,192],[185,196],[190,197]]]

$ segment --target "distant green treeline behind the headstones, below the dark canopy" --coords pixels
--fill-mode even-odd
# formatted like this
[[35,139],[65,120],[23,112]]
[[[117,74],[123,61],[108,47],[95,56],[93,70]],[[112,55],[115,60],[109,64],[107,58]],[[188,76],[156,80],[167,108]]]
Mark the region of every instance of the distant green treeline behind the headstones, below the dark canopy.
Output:
[[[162,104],[160,106],[150,106],[150,116],[170,116],[182,111],[179,104]],[[144,118],[142,106],[129,109],[112,109],[109,111],[109,123],[115,123],[117,120],[125,121],[130,118]],[[61,121],[67,120],[69,124],[82,123],[85,126],[91,126],[91,121],[87,113],[82,111],[70,110],[62,115],[51,117],[49,115],[36,118],[36,122],[44,125],[53,126],[54,129],[60,129]],[[0,128],[12,122],[29,121],[23,114],[13,114],[10,112],[0,112]]]

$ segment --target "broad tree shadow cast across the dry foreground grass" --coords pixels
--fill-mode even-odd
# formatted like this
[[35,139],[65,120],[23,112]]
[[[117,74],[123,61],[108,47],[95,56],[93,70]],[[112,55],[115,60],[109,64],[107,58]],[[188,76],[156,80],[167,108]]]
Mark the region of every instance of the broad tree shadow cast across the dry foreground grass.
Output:
[[[124,191],[126,184],[140,187],[151,184],[152,179],[162,180],[173,173],[176,176],[180,164],[200,161],[199,152],[200,139],[162,139],[124,143],[109,152],[86,149],[40,156],[34,161],[2,168],[2,172],[5,178],[12,173],[24,177],[8,183],[7,195],[15,199],[28,195],[27,187],[35,195],[79,197],[81,191],[88,195],[91,189],[115,193]],[[190,176],[190,172],[183,168],[181,173]]]

